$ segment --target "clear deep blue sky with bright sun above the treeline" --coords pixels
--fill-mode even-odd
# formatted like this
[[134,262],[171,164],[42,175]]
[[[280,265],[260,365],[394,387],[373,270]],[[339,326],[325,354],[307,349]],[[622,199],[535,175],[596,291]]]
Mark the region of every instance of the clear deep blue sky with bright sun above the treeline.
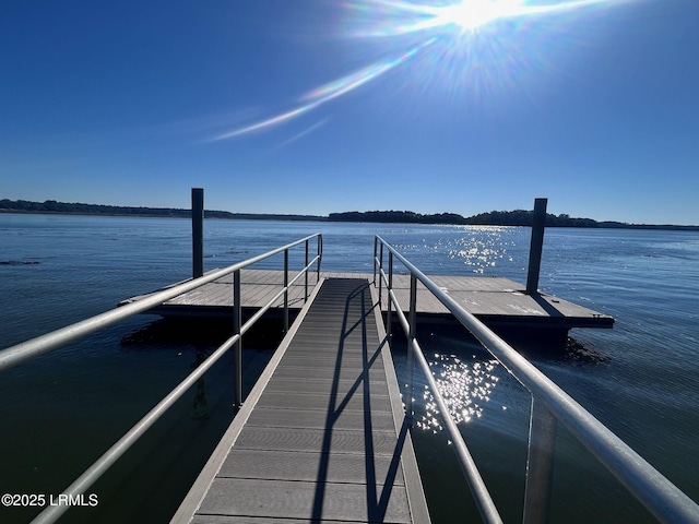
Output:
[[0,198],[699,224],[697,0],[0,7]]

